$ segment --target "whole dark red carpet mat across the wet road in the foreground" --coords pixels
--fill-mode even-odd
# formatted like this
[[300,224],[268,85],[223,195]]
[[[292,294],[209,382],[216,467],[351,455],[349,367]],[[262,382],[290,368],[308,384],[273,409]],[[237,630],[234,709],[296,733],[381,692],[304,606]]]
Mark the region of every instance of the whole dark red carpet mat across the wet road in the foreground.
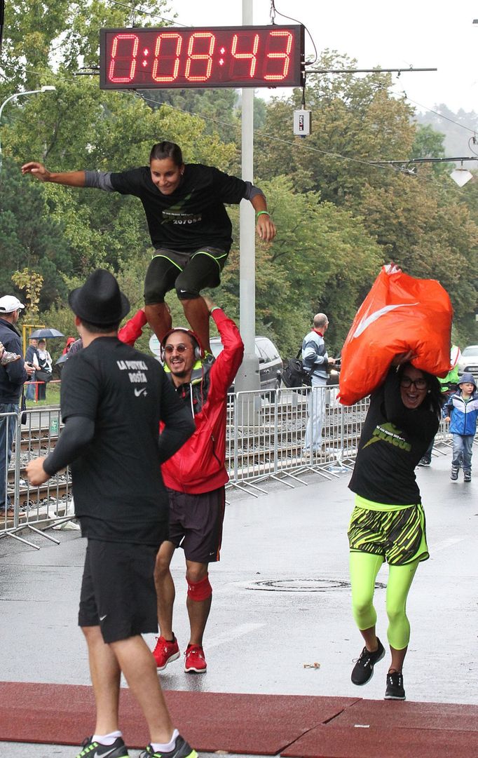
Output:
[[[174,725],[199,752],[284,758],[476,758],[478,706],[351,697],[165,691]],[[0,740],[79,745],[91,735],[92,688],[0,682]],[[130,691],[120,726],[130,747],[148,731]]]

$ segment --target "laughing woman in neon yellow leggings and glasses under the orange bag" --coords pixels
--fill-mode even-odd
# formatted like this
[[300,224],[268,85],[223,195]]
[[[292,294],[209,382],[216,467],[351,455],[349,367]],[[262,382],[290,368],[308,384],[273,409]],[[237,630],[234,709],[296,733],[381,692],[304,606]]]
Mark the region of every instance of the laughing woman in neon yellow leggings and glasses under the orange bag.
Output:
[[365,641],[351,681],[366,684],[385,655],[376,636],[373,590],[380,566],[387,561],[387,637],[392,653],[387,700],[405,700],[401,669],[410,638],[405,606],[417,566],[429,557],[414,469],[438,430],[440,409],[436,377],[410,363],[392,368],[370,399],[348,485],[355,492],[348,528],[352,609]]

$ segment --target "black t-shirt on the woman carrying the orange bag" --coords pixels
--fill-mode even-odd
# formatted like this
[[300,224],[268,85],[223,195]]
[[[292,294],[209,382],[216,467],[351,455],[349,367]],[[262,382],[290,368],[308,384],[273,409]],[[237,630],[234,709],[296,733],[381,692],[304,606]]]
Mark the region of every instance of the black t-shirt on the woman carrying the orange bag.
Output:
[[370,398],[348,487],[374,503],[420,503],[415,468],[438,427],[426,399],[414,410],[404,406],[396,371],[390,371]]

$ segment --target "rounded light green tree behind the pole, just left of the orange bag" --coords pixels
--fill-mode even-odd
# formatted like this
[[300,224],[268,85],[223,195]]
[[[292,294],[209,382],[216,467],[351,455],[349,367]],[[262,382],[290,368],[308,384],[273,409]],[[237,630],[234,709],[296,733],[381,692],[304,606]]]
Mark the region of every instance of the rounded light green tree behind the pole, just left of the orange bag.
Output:
[[[356,303],[380,267],[380,248],[361,220],[321,203],[317,193],[294,193],[285,177],[260,184],[280,226],[272,245],[256,244],[257,333],[272,336],[283,355],[292,355],[312,316],[323,310],[330,315],[330,345],[339,350]],[[231,215],[236,228],[236,208]],[[215,298],[239,316],[236,246]]]

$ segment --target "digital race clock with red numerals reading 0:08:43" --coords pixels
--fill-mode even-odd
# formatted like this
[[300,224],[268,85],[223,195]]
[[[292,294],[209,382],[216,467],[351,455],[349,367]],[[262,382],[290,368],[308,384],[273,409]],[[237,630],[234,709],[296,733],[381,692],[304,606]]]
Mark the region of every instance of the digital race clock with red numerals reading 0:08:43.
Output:
[[302,84],[304,27],[102,29],[102,89]]

